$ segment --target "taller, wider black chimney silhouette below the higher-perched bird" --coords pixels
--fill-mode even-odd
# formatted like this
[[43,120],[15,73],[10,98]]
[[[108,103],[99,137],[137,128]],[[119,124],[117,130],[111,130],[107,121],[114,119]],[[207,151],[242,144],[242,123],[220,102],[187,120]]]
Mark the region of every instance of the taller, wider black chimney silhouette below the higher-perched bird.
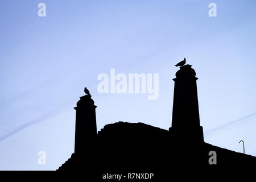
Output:
[[191,65],[184,65],[174,78],[174,106],[172,109],[171,135],[179,140],[203,142],[197,100],[196,72]]

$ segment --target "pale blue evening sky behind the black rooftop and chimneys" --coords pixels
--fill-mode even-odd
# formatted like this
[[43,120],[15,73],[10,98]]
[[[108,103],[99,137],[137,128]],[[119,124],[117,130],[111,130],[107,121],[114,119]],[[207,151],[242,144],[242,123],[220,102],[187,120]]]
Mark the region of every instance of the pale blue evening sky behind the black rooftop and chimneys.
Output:
[[[212,2],[217,17],[208,15]],[[174,65],[184,57],[199,78],[205,142],[242,152],[243,139],[256,156],[255,10],[255,1],[0,1],[0,169],[61,166],[74,149],[84,86],[98,130],[118,121],[168,129]],[[98,93],[97,76],[111,68],[159,73],[159,98]]]

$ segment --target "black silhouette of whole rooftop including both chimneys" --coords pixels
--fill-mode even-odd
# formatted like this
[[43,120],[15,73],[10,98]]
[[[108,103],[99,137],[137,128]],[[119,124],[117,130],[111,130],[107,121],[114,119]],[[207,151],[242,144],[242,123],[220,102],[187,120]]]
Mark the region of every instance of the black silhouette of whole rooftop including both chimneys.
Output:
[[203,171],[255,167],[254,156],[204,142],[196,72],[191,65],[180,67],[174,81],[169,130],[144,123],[118,122],[97,133],[94,101],[90,94],[80,97],[75,107],[75,152],[57,171],[86,174],[95,181],[100,181],[104,173],[127,172],[154,173],[155,179],[166,180],[177,173],[200,175]]

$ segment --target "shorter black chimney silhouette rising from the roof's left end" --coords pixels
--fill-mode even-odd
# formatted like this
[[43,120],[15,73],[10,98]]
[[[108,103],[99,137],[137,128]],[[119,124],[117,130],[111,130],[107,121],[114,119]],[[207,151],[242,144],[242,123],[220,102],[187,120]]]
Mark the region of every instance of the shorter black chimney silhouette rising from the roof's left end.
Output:
[[94,101],[88,93],[80,97],[77,102],[76,110],[76,134],[75,134],[75,153],[85,151],[86,147],[94,142],[97,135],[96,113]]

